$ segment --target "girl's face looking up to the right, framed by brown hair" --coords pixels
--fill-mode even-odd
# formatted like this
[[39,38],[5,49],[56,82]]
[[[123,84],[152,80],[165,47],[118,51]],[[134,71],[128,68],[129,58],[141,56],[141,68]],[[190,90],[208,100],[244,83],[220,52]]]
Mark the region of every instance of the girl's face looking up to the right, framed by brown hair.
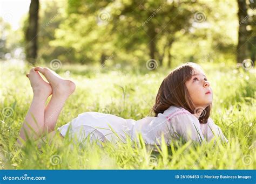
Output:
[[206,108],[212,103],[212,89],[201,69],[194,69],[191,79],[185,85],[196,107]]

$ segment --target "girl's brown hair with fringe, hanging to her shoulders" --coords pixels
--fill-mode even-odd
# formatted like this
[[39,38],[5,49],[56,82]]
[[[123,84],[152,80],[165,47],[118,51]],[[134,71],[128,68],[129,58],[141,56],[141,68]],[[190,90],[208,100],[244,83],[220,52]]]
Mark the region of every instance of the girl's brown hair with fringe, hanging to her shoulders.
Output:
[[[182,107],[191,112],[191,114],[196,113],[198,107],[192,102],[185,85],[185,82],[191,79],[194,69],[196,68],[201,69],[196,63],[187,62],[173,69],[165,77],[158,90],[156,103],[152,108],[155,117],[157,117],[159,113],[163,113],[171,105]],[[199,117],[200,123],[207,123],[211,114],[211,109],[212,104],[208,105],[205,109],[202,109],[203,112],[201,112]]]

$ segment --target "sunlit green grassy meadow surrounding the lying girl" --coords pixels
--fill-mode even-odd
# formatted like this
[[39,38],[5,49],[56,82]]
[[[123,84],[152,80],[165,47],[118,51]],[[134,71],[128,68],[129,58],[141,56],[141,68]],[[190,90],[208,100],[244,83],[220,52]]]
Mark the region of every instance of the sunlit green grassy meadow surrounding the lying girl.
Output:
[[[14,146],[32,100],[24,63],[1,62],[0,166],[2,169],[255,169],[255,70],[232,65],[202,64],[213,88],[212,119],[229,140],[227,144],[188,146],[179,141],[152,148],[106,143],[73,145],[58,136],[41,148],[29,141]],[[104,68],[63,65],[56,72],[76,83],[58,126],[85,111],[99,111],[140,119],[151,116],[157,90],[171,69]]]

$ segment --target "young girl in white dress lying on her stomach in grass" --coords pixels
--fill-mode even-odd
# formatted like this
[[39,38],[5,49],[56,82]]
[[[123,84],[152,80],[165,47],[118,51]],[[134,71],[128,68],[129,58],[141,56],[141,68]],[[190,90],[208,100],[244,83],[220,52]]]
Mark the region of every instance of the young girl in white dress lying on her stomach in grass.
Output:
[[[45,82],[39,72],[45,76]],[[55,125],[66,99],[76,86],[48,68],[36,67],[27,74],[33,89],[33,100],[25,117],[20,138],[37,139],[46,132],[55,135]],[[47,98],[51,100],[45,108]],[[146,144],[159,145],[161,135],[167,144],[179,138],[202,143],[219,137],[228,141],[210,118],[213,92],[203,69],[196,63],[188,62],[173,69],[163,80],[153,105],[154,117],[135,121],[100,112],[84,112],[68,124],[57,128],[62,136],[83,141],[87,136],[97,141],[123,141],[126,136],[138,141],[141,133]]]

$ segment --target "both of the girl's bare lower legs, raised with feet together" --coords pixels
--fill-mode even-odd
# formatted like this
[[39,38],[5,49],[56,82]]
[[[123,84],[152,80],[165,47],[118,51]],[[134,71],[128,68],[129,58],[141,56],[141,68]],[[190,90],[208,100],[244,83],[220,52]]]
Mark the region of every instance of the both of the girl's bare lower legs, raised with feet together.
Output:
[[[48,82],[44,81],[42,73]],[[47,132],[52,132],[57,123],[65,101],[75,91],[76,85],[65,80],[48,68],[31,68],[26,75],[33,90],[33,99],[19,133],[17,144],[22,145],[27,139],[38,139]],[[45,107],[47,98],[52,95]],[[52,136],[53,131],[50,135]]]

